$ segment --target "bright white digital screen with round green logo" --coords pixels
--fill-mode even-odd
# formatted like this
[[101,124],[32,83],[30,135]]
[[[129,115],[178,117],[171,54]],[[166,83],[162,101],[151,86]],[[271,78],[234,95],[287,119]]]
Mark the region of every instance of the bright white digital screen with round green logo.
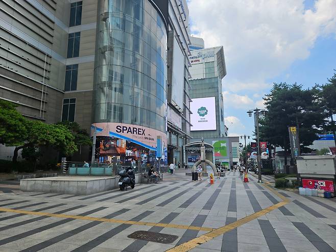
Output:
[[216,128],[216,107],[215,98],[194,98],[191,99],[190,110],[190,127],[191,131],[195,130],[215,130]]

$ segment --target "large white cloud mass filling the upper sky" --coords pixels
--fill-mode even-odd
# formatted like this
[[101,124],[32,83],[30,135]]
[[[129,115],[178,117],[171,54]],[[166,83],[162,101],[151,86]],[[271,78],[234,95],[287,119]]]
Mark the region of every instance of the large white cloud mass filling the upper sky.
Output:
[[294,61],[309,56],[319,36],[336,32],[336,0],[190,0],[191,31],[206,47],[224,46],[231,92],[270,88]]

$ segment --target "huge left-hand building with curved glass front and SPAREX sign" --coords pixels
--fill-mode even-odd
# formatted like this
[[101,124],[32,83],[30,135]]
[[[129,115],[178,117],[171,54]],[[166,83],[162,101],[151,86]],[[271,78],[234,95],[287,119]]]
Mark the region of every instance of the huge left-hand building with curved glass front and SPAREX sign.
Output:
[[[163,161],[168,152],[182,162],[190,138],[185,0],[14,0],[0,11],[1,99],[33,120],[79,123],[97,135],[101,162],[152,160],[158,137]],[[89,155],[82,149],[74,159]]]

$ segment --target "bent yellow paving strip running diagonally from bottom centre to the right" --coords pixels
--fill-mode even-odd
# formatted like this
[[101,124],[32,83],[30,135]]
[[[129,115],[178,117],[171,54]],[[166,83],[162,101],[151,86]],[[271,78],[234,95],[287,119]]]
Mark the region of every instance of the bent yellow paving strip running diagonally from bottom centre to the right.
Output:
[[254,214],[248,215],[242,219],[239,219],[235,222],[232,222],[231,224],[219,227],[219,228],[215,228],[212,231],[210,231],[209,233],[206,233],[204,235],[201,235],[200,237],[197,237],[193,240],[190,240],[188,242],[184,242],[179,246],[173,247],[171,249],[166,250],[166,252],[186,252],[189,251],[190,249],[193,249],[203,243],[206,243],[210,240],[212,240],[215,237],[218,237],[220,235],[223,235],[231,230],[234,230],[235,228],[237,228],[238,226],[241,226],[243,224],[246,224],[248,222],[250,222],[251,220],[254,220],[260,216],[266,215],[267,213],[270,213],[271,211],[278,209],[280,207],[282,207],[283,205],[287,204],[290,202],[289,199],[287,199],[286,197],[284,197],[283,195],[281,195],[280,193],[278,193],[276,190],[274,190],[273,188],[269,187],[268,185],[265,184],[261,184],[264,187],[266,187],[268,190],[270,190],[271,192],[273,192],[275,195],[277,195],[279,198],[282,199],[281,202],[276,203],[274,205],[271,205],[271,207],[268,207],[266,209],[263,209],[259,212],[256,212]]

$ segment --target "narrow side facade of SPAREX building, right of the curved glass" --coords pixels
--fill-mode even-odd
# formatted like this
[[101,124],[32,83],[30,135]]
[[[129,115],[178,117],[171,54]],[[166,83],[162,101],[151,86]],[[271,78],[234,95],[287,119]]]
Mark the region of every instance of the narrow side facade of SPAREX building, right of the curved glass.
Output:
[[186,0],[169,1],[167,72],[167,156],[169,163],[186,162],[183,146],[190,139],[189,11]]

